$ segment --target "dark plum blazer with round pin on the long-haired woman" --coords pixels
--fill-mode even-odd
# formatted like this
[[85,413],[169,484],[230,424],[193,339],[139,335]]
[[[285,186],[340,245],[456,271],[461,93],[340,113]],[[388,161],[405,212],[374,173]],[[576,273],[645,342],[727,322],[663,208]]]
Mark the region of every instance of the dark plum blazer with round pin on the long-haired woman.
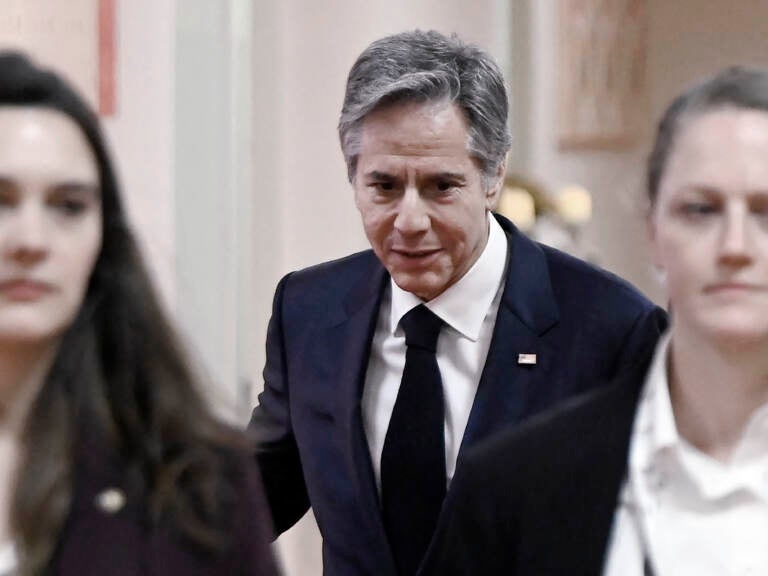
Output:
[[[98,441],[82,446],[69,516],[45,576],[274,576],[272,524],[253,461],[232,457],[230,544],[212,555],[168,528],[148,528],[133,475]],[[123,499],[115,501],[115,494]],[[109,499],[109,496],[113,498]]]

